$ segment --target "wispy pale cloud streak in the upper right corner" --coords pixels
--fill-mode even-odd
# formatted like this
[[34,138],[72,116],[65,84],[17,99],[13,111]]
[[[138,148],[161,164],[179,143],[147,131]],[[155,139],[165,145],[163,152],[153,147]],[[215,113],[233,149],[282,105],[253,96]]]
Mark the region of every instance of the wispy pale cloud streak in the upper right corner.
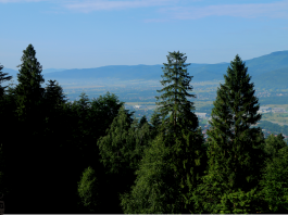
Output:
[[274,17],[288,18],[288,1],[273,3],[222,4],[208,7],[176,7],[160,9],[176,20],[197,20],[206,16],[235,16],[245,18]]

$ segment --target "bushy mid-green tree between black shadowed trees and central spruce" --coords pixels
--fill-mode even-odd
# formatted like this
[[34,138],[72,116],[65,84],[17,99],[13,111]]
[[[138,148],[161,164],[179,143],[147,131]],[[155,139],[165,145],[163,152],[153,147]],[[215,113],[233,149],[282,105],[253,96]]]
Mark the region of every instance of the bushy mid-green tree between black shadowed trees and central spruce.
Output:
[[122,106],[108,129],[108,135],[100,137],[97,142],[110,187],[113,187],[116,195],[126,192],[133,185],[136,179],[134,173],[151,140],[148,123],[138,124],[130,116]]

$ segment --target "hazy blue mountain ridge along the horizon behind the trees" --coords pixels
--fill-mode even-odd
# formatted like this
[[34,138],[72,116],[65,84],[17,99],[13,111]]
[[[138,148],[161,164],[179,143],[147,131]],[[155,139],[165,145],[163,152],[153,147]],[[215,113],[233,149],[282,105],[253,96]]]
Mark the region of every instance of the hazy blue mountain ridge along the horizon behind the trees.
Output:
[[[231,60],[233,61],[233,60]],[[288,51],[277,51],[265,54],[251,60],[243,61],[248,66],[248,73],[252,76],[251,81],[255,86],[279,86],[288,87]],[[189,75],[192,75],[193,81],[224,80],[227,67],[230,63],[217,64],[197,64],[191,63],[188,68]],[[120,79],[120,80],[161,80],[163,75],[163,64],[156,65],[109,65],[96,68],[73,68],[64,69],[49,68],[42,72],[47,83],[49,79],[62,81],[86,81],[92,79]],[[57,71],[57,72],[54,72]],[[4,73],[9,73],[14,77],[16,83],[16,74],[18,72],[3,68]],[[191,83],[191,85],[192,85]]]

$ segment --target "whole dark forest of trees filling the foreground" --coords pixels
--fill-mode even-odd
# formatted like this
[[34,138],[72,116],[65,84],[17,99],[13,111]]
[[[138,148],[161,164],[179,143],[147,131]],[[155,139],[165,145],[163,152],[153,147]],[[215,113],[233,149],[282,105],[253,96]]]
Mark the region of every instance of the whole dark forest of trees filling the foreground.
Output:
[[[71,103],[55,80],[42,88],[29,45],[18,85],[0,85],[5,215],[287,214],[288,147],[251,127],[261,115],[246,64],[226,66],[204,141],[187,56],[168,53],[148,124],[113,93]],[[2,69],[0,84],[11,79]]]

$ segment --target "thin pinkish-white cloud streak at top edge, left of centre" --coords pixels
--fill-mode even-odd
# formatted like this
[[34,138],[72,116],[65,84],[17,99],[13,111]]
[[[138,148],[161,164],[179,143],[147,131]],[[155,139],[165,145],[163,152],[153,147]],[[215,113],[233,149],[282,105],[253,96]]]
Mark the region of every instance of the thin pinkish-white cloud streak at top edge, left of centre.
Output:
[[80,12],[102,11],[102,10],[123,10],[133,8],[167,5],[178,0],[129,0],[129,1],[75,1],[65,4],[65,8]]

